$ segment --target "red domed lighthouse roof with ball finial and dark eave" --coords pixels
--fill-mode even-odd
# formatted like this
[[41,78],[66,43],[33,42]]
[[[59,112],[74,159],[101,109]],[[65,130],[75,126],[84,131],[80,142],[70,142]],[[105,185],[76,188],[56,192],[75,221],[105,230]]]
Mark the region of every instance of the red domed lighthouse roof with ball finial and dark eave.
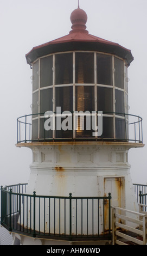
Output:
[[72,31],[70,31],[68,35],[33,47],[33,49],[26,54],[27,63],[31,64],[37,58],[50,53],[84,50],[116,54],[116,56],[125,59],[126,63],[130,65],[133,60],[130,50],[127,50],[115,42],[107,41],[88,33],[86,30],[87,14],[84,10],[79,7],[75,9],[71,14],[71,22]]

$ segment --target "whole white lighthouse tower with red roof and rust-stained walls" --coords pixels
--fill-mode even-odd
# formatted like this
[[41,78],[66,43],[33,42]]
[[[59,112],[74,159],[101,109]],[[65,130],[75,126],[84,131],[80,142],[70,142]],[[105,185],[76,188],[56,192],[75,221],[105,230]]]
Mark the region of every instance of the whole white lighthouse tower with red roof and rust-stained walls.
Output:
[[91,35],[79,6],[71,22],[68,35],[26,54],[32,113],[17,120],[16,146],[33,161],[25,194],[14,193],[14,244],[100,243],[110,239],[110,204],[137,209],[127,155],[143,143],[142,119],[128,112],[131,51]]

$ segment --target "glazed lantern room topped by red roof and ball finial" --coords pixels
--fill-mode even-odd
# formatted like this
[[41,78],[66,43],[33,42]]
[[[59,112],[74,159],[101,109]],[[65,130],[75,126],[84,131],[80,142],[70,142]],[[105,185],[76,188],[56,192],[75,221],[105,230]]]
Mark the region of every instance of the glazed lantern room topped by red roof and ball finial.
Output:
[[[68,35],[26,55],[33,69],[31,141],[127,141],[131,51],[89,34],[87,14],[79,7],[72,12],[71,22]],[[46,129],[48,118],[52,125]]]

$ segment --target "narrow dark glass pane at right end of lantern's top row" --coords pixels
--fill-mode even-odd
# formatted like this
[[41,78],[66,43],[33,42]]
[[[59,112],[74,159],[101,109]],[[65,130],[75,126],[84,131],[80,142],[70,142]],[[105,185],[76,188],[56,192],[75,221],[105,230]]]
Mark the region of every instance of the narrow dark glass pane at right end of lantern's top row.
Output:
[[115,86],[124,89],[124,62],[114,57],[114,81]]

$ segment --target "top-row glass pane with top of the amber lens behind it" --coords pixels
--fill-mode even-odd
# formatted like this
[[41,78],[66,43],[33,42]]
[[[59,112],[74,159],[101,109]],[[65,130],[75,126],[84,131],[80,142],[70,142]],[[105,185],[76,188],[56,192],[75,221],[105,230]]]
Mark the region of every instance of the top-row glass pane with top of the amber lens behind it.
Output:
[[75,53],[75,83],[94,83],[94,53]]

